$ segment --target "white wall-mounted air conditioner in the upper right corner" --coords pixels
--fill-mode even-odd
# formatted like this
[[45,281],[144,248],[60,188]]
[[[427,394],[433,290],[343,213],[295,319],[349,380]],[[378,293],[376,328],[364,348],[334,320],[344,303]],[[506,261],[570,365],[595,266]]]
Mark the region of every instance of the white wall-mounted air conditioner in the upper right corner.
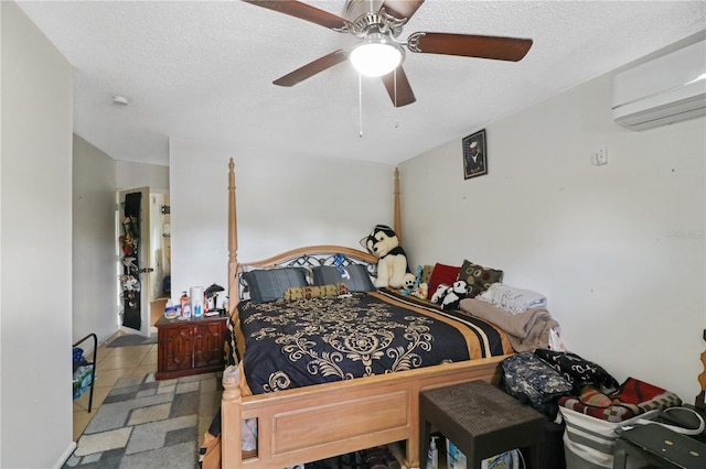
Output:
[[706,116],[706,41],[618,73],[612,110],[631,130]]

